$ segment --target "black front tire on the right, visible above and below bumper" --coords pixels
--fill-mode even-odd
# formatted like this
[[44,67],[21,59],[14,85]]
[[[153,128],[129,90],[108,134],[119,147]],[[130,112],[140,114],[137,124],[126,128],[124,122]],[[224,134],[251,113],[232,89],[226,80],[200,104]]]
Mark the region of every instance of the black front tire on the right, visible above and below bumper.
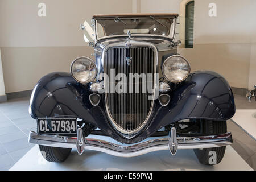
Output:
[[[222,134],[226,133],[226,121],[209,121],[200,119],[200,133],[203,134]],[[214,165],[221,162],[224,157],[226,146],[194,149],[197,159],[201,164]],[[216,152],[216,163],[213,162],[213,152]],[[210,162],[210,163],[209,163]]]

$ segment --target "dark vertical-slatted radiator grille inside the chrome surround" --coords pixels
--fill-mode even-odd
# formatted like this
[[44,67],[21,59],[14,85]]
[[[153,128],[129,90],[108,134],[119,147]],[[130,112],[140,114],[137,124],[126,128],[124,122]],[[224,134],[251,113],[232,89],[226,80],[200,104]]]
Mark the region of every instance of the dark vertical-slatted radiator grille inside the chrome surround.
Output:
[[[127,64],[126,57],[132,57],[130,65]],[[105,52],[104,72],[109,76],[108,87],[111,86],[110,70],[115,70],[115,75],[124,73],[127,82],[130,83],[131,77],[129,73],[151,73],[151,80],[147,80],[150,88],[154,88],[155,59],[154,49],[151,47],[112,47]],[[116,86],[118,81],[114,82]],[[113,86],[113,85],[112,85]],[[129,93],[108,93],[106,96],[106,107],[109,111],[110,119],[121,130],[130,132],[138,129],[150,115],[153,100],[148,100],[148,96],[152,95],[148,92],[142,93],[142,80],[133,78],[132,84],[125,84]],[[133,86],[133,87],[131,87]],[[139,87],[139,93],[135,92],[135,88]],[[130,91],[129,91],[130,90]],[[133,93],[131,93],[133,90]],[[117,127],[117,128],[118,128]]]

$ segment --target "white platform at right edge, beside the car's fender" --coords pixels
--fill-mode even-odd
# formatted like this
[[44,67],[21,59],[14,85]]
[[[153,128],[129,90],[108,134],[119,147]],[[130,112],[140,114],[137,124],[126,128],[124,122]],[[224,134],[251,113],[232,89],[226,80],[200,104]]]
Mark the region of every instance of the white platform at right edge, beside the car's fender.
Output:
[[237,109],[231,120],[256,140],[256,109]]

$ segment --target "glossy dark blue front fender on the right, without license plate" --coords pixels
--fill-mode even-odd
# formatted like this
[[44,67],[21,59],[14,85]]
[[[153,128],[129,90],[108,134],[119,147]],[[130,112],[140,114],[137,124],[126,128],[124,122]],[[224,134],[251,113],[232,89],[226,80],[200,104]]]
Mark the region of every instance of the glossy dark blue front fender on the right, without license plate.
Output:
[[[161,93],[160,93],[161,94]],[[233,117],[236,106],[232,89],[224,77],[212,71],[191,73],[175,90],[167,106],[156,102],[154,118],[133,142],[144,139],[160,128],[182,119],[225,121]]]

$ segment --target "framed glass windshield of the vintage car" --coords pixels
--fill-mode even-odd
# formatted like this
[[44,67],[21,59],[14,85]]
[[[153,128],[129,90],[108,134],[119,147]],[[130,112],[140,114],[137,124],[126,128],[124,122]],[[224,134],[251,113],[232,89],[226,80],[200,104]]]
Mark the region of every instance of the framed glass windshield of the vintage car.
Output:
[[131,34],[152,34],[170,36],[173,18],[113,18],[98,19],[97,37],[111,35],[126,35],[129,30]]

